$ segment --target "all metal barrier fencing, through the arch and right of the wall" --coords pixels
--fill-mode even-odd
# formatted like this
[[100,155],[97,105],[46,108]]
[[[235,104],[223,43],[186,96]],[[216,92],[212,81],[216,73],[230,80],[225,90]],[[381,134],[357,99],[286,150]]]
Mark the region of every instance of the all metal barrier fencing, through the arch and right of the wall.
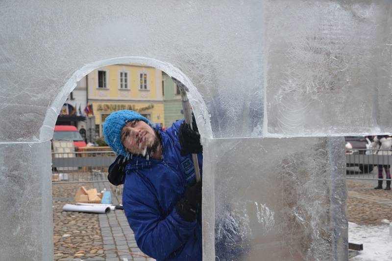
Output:
[[[107,171],[116,159],[113,151],[52,152],[52,184],[107,181]],[[346,151],[347,179],[382,180],[392,165],[392,150],[352,149]]]

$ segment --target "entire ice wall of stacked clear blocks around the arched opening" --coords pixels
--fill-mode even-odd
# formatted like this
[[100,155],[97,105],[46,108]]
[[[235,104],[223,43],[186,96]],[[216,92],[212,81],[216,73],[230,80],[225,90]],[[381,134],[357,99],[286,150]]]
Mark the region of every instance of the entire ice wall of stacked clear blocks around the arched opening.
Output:
[[[272,228],[276,232],[281,225],[293,229],[288,234],[283,230],[288,238],[282,240],[293,242],[291,231],[304,239],[303,245],[294,242],[285,250],[280,248],[282,253],[277,255],[296,249],[301,255],[310,253],[320,260],[328,255],[343,260],[346,256],[340,248],[346,250],[346,232],[344,225],[336,226],[333,220],[342,218],[344,223],[344,188],[337,186],[342,191],[328,194],[334,191],[335,179],[340,180],[343,175],[337,164],[338,169],[331,165],[332,159],[340,162],[341,152],[332,153],[328,147],[334,140],[309,138],[305,142],[290,138],[271,142],[266,138],[391,130],[391,8],[389,0],[169,0],[164,4],[1,1],[0,186],[1,209],[8,212],[1,216],[5,218],[1,218],[0,247],[5,252],[1,251],[0,259],[50,260],[48,141],[55,119],[76,81],[85,74],[102,65],[133,62],[164,70],[190,88],[199,131],[210,155],[205,157],[205,178],[214,181],[211,185],[205,183],[204,196],[216,197],[214,205],[204,205],[203,215],[208,220],[204,225],[209,228],[204,231],[205,242],[214,244],[215,231],[223,235],[223,230],[215,229],[221,220],[214,217],[221,213],[221,204],[227,200],[237,215],[252,215],[249,227],[243,227],[241,235],[260,239],[263,233],[272,233]],[[242,138],[250,136],[257,138]],[[279,148],[285,146],[283,141],[291,149],[281,149],[281,155],[264,160],[276,149],[275,143]],[[301,142],[315,153],[309,155],[311,152]],[[242,143],[253,149],[246,152]],[[229,149],[218,152],[214,146]],[[236,161],[230,150],[236,151],[242,160]],[[268,153],[263,152],[263,157],[252,154],[260,150]],[[317,157],[320,154],[322,157]],[[233,160],[227,161],[220,155]],[[283,164],[286,158],[301,161],[306,168],[290,170]],[[264,165],[258,165],[260,162]],[[318,212],[319,206],[315,206],[312,213],[317,217],[306,212],[307,204],[314,204],[307,201],[312,198],[313,188],[305,190],[293,185],[291,190],[283,189],[282,185],[290,183],[278,183],[272,176],[276,167],[280,176],[304,182],[303,178],[311,177],[312,164],[329,164],[319,181],[324,185],[319,186],[323,196],[319,202],[325,212]],[[223,165],[237,173],[230,171],[225,178],[227,183],[217,183]],[[266,172],[251,176],[256,166]],[[285,166],[289,169],[284,170]],[[252,184],[246,184],[246,179],[241,180],[244,183],[230,183],[238,173],[251,178]],[[236,192],[236,188],[252,187],[254,183],[260,184],[261,192],[268,191],[269,184],[258,182],[263,178],[274,182],[283,196],[294,191],[304,201],[294,200],[289,205],[275,201],[276,205],[270,206],[272,200],[264,198],[268,196],[264,193],[254,197]],[[311,179],[309,184],[316,183]],[[221,198],[222,194],[213,190],[225,186],[243,202]],[[15,197],[14,191],[20,197]],[[296,199],[297,195],[286,196]],[[22,198],[25,204],[9,209],[16,198]],[[248,199],[255,200],[249,203]],[[342,216],[327,212],[337,206],[341,207],[337,211]],[[293,216],[295,208],[302,211],[297,217]],[[23,215],[26,209],[28,216]],[[241,214],[240,209],[249,212]],[[283,219],[286,213],[286,218],[291,219]],[[315,233],[320,232],[319,238],[301,228],[300,218],[316,222],[312,227]],[[326,223],[318,224],[319,220]],[[323,240],[334,229],[341,229],[341,234],[335,235],[327,246]],[[311,242],[325,251],[314,252]],[[24,251],[15,251],[21,246]],[[214,249],[205,245],[205,259],[214,259]],[[246,251],[250,260],[260,248],[252,243]]]

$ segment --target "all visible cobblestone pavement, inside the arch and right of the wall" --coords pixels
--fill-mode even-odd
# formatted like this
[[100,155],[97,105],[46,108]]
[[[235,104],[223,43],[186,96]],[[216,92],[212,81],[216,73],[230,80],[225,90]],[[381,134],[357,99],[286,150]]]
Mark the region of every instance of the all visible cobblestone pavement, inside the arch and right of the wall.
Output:
[[[392,191],[374,190],[376,183],[375,180],[347,180],[350,222],[380,225],[382,219],[392,221]],[[54,260],[151,261],[137,247],[123,210],[107,214],[62,211],[64,204],[74,203],[74,194],[80,186],[98,191],[110,188],[112,203],[121,203],[121,192],[116,192],[108,182],[53,185]]]

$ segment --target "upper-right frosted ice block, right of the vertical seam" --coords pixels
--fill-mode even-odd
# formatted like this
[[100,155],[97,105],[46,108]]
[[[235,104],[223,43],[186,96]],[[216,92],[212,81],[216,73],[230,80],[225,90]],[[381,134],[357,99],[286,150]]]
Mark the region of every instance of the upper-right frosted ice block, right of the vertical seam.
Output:
[[391,131],[391,1],[269,0],[264,10],[265,136]]

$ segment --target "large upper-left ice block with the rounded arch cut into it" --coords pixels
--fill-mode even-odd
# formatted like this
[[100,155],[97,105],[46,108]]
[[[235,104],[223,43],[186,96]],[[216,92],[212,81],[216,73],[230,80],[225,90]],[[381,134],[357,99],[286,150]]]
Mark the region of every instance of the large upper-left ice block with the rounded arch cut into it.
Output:
[[260,11],[237,1],[1,1],[0,140],[50,139],[40,127],[53,127],[83,77],[74,73],[140,57],[193,86],[196,116],[210,125],[199,118],[210,113],[216,136],[250,135],[262,124]]

